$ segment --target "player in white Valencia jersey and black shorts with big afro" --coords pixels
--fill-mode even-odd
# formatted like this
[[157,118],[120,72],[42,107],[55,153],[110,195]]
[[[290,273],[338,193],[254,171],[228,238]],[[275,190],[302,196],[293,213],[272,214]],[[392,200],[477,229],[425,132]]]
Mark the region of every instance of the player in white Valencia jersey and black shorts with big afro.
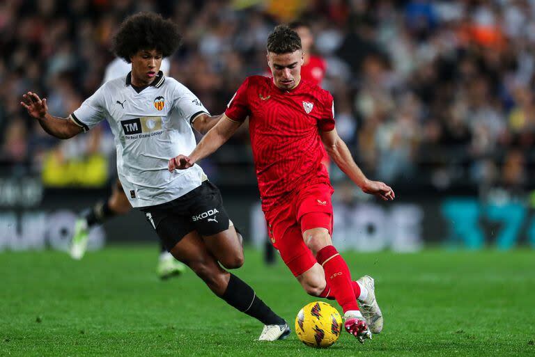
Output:
[[195,148],[192,128],[206,132],[219,119],[210,117],[189,89],[160,71],[162,58],[179,44],[178,26],[170,20],[154,13],[133,15],[113,41],[114,53],[132,63],[127,76],[106,82],[68,118],[51,116],[46,99],[36,93],[23,95],[21,105],[56,138],[71,138],[108,120],[118,177],[132,207],[146,213],[173,256],[214,294],[264,324],[259,340],[286,338],[286,321],[226,271],[241,267],[244,257],[219,189],[199,165],[169,170],[169,159]]

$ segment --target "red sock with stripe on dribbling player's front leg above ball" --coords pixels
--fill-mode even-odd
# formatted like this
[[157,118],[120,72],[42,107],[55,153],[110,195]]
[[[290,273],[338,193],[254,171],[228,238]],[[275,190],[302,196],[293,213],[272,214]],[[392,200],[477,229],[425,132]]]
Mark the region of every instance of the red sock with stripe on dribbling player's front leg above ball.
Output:
[[[336,251],[334,246],[326,246],[321,249],[316,255],[316,260],[323,266],[325,270],[325,280],[327,286],[330,286],[331,293],[340,306],[343,312],[348,310],[359,310],[357,298],[353,291],[351,283],[351,273],[349,272],[348,264],[343,260],[341,255]],[[329,292],[327,290],[327,295]]]

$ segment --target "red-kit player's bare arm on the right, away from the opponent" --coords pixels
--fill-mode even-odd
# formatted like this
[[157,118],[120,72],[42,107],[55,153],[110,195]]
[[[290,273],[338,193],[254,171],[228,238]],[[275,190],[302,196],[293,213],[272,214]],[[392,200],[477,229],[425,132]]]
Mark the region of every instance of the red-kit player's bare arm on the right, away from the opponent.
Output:
[[321,140],[325,144],[325,150],[327,150],[329,156],[340,170],[348,175],[352,182],[355,182],[362,191],[378,196],[385,201],[396,198],[394,190],[388,187],[387,184],[380,181],[371,181],[366,178],[351,156],[348,146],[340,138],[338,132],[336,132],[336,129],[330,132],[321,132]]

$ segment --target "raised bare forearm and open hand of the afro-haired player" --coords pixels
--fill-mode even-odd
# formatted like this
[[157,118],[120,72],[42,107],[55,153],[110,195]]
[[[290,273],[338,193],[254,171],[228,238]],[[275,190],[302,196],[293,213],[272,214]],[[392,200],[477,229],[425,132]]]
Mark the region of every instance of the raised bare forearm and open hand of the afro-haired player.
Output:
[[20,105],[24,106],[28,111],[29,116],[39,120],[42,129],[48,134],[56,136],[56,138],[72,138],[82,132],[82,127],[79,127],[69,118],[57,118],[48,113],[47,100],[42,100],[36,93],[28,92],[22,95],[22,102]]

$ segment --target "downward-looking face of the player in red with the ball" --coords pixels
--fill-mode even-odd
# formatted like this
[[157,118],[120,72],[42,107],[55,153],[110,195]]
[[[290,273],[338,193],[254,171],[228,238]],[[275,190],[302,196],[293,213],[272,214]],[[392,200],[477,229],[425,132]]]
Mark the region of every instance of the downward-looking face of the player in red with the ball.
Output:
[[292,89],[301,80],[303,51],[298,49],[287,54],[267,52],[267,65],[270,66],[275,86],[281,89]]

